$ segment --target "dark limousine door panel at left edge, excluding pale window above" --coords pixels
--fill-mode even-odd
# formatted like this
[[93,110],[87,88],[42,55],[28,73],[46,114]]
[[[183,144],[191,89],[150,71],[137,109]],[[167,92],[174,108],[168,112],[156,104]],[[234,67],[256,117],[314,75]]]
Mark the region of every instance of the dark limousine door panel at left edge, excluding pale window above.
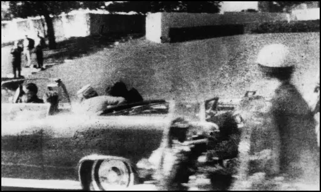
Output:
[[1,177],[45,178],[41,127],[1,122]]

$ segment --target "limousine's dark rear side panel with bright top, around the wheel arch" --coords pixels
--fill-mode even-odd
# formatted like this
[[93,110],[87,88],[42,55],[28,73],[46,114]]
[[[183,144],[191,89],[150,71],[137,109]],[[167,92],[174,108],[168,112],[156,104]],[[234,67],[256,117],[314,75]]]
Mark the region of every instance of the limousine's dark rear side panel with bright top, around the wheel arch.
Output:
[[[57,119],[59,118],[59,120]],[[87,155],[125,157],[133,163],[157,149],[166,125],[162,117],[51,116],[44,126],[44,166],[50,179],[78,179]]]

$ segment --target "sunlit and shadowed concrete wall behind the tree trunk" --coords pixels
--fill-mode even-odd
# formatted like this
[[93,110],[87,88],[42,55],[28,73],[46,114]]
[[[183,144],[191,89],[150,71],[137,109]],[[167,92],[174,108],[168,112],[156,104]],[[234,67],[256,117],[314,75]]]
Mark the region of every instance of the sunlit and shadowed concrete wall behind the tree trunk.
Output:
[[[145,18],[142,15],[77,13],[54,17],[53,25],[56,41],[59,42],[70,37],[106,33],[145,33]],[[1,44],[22,39],[25,34],[28,34],[30,38],[35,38],[38,31],[44,36],[47,33],[46,30],[46,23],[40,17],[2,21]]]

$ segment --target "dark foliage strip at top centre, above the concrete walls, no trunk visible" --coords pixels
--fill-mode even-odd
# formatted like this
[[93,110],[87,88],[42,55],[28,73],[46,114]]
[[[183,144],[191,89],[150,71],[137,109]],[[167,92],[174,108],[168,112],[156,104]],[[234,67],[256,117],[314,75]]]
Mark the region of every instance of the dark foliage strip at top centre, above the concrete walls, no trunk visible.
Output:
[[221,1],[124,1],[106,6],[111,13],[136,12],[138,14],[156,12],[218,13]]

